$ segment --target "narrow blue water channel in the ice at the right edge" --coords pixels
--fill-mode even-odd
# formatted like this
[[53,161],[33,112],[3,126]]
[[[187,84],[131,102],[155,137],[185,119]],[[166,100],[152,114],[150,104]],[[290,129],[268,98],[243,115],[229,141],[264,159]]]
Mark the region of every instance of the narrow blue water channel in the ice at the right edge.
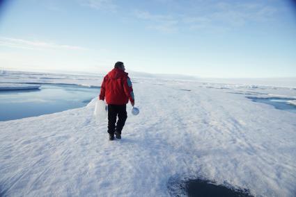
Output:
[[288,112],[296,113],[296,106],[288,103],[288,101],[290,101],[291,99],[259,99],[254,97],[247,98],[251,99],[254,102],[272,105],[278,110],[285,110]]

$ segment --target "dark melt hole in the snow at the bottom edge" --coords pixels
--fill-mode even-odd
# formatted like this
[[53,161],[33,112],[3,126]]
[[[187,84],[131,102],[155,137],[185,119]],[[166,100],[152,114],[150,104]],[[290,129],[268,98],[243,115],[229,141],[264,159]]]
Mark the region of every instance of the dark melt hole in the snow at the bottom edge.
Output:
[[189,180],[185,189],[188,196],[202,197],[245,197],[251,196],[247,190],[229,189],[222,185],[214,185],[206,180]]

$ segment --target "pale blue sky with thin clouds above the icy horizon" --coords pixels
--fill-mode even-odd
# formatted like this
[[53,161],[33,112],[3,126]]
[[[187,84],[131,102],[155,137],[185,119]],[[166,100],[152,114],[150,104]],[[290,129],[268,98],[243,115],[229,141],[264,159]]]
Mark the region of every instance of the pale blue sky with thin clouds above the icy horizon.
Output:
[[296,76],[288,0],[0,0],[0,69]]

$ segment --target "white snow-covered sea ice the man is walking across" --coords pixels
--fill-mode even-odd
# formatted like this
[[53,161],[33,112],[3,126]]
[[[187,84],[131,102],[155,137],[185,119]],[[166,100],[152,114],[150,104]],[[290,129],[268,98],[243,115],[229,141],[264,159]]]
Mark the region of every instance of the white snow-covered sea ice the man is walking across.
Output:
[[[29,76],[6,79],[45,80]],[[59,78],[46,80],[102,80]],[[199,177],[254,196],[295,196],[296,114],[246,98],[294,98],[295,89],[132,81],[141,113],[127,106],[123,138],[114,142],[107,120],[93,117],[95,98],[85,108],[0,122],[0,196],[169,196],[172,180]]]

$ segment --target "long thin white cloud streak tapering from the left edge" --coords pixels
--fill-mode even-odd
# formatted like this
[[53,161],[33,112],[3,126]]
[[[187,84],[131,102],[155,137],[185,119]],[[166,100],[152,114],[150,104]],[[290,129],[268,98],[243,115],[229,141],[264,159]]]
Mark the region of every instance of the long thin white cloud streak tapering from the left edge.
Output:
[[65,44],[55,44],[52,42],[40,42],[31,40],[22,40],[11,37],[0,37],[0,46],[6,46],[19,49],[65,49],[65,50],[86,50],[80,46],[71,46]]

